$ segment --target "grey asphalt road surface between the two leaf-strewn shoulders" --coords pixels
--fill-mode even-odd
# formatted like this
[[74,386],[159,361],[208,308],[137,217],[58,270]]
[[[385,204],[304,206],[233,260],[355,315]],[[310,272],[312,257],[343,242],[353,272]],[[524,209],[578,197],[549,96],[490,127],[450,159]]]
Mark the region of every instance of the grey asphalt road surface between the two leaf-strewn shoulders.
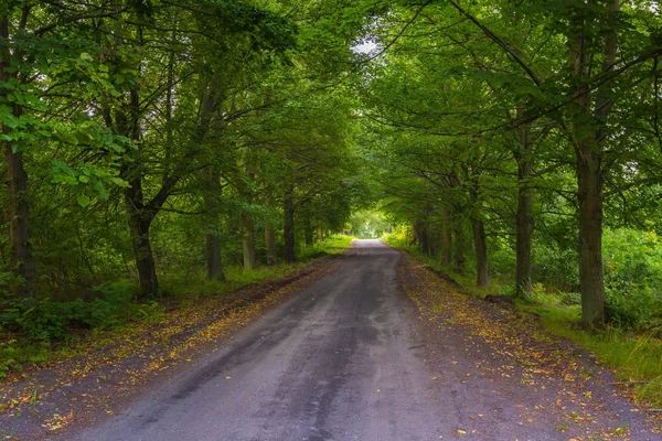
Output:
[[[399,254],[356,256],[190,373],[79,440],[436,440],[448,415],[397,292]],[[445,415],[446,413],[446,415]]]

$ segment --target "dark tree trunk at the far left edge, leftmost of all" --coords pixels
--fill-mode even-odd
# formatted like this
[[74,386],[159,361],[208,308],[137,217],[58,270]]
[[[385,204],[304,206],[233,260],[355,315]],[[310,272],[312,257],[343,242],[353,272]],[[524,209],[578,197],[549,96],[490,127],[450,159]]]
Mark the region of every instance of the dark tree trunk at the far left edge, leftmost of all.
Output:
[[[9,18],[0,18],[0,39],[9,41]],[[11,74],[7,72],[11,54],[9,47],[0,47],[0,80],[8,82]],[[7,98],[7,89],[0,88]],[[19,118],[22,107],[13,105],[12,115]],[[2,125],[2,133],[11,137],[12,129]],[[23,153],[13,151],[11,140],[4,141],[4,160],[7,162],[7,186],[9,189],[10,240],[12,248],[12,271],[15,277],[14,293],[19,299],[34,297],[34,265],[32,245],[30,244],[30,217],[28,211],[28,174],[23,165]]]

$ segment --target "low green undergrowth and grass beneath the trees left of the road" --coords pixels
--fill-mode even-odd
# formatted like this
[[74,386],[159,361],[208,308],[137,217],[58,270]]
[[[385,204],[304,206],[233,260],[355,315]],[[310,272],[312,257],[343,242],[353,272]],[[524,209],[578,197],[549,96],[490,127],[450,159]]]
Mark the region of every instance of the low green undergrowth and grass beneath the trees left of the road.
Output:
[[145,326],[162,322],[169,309],[296,273],[316,259],[343,252],[352,239],[337,235],[302,248],[296,263],[260,266],[250,271],[228,266],[224,268],[225,281],[207,281],[202,270],[163,275],[163,297],[159,301],[136,301],[137,287],[127,280],[96,287],[92,300],[6,301],[0,303],[0,378],[19,373],[26,365],[44,366],[84,354],[90,349],[89,336],[103,333],[96,344],[110,343],[136,322]]

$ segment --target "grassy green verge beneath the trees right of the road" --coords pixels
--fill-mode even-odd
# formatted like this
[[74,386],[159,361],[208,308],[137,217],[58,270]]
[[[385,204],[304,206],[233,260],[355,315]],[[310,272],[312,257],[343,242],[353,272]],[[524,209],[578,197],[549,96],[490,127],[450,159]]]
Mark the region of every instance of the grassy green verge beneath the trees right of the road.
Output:
[[[418,261],[446,271],[465,291],[485,297],[512,291],[509,280],[493,280],[487,288],[477,288],[472,276],[441,268],[438,260],[425,256],[417,247],[398,235],[385,236],[384,240],[396,248],[409,251]],[[653,408],[662,408],[662,340],[659,332],[633,332],[608,326],[600,331],[587,331],[580,325],[580,306],[566,304],[559,293],[545,292],[536,284],[532,298],[517,301],[520,310],[542,318],[545,330],[566,337],[595,353],[602,366],[612,369],[618,381],[627,388],[634,401]]]

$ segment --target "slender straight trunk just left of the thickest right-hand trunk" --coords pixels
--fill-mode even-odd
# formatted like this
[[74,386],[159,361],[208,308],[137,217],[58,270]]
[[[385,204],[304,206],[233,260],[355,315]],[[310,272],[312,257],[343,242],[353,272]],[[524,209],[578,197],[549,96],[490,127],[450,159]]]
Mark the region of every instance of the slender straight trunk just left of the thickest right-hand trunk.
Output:
[[[517,109],[522,116],[522,109]],[[516,271],[515,295],[526,298],[533,289],[531,280],[531,241],[533,237],[533,208],[530,179],[533,172],[531,142],[528,129],[522,128],[520,133],[520,148],[517,160],[517,213],[515,215],[516,229]]]

